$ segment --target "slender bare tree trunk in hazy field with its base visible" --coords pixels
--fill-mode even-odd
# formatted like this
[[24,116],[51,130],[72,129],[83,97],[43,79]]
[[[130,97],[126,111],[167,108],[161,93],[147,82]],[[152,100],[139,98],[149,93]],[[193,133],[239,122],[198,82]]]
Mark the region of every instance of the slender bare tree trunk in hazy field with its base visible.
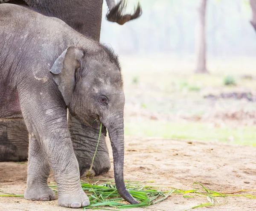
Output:
[[206,69],[206,36],[205,36],[205,13],[206,13],[207,0],[201,0],[199,13],[199,30],[198,30],[198,43],[197,43],[197,67],[196,73],[208,73]]

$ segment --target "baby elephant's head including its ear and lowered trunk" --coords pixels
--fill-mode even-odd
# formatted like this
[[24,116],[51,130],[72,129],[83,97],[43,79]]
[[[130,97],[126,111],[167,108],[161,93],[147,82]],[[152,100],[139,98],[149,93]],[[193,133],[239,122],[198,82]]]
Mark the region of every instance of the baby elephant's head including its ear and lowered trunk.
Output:
[[[113,150],[116,188],[130,203],[138,203],[123,180],[125,96],[116,55],[104,46],[88,51],[70,46],[50,72],[70,113],[91,127],[108,130]],[[106,133],[106,130],[103,130]]]

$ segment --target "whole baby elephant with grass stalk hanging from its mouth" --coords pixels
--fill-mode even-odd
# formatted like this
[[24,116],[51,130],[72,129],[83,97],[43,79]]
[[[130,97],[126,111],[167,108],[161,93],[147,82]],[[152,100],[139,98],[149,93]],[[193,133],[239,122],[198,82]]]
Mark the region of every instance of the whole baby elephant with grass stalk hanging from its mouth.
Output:
[[63,21],[21,6],[1,4],[0,17],[0,119],[24,118],[29,131],[25,198],[55,199],[47,185],[52,169],[59,205],[89,205],[67,126],[68,108],[91,127],[102,123],[108,129],[116,188],[137,204],[123,179],[125,96],[116,55]]

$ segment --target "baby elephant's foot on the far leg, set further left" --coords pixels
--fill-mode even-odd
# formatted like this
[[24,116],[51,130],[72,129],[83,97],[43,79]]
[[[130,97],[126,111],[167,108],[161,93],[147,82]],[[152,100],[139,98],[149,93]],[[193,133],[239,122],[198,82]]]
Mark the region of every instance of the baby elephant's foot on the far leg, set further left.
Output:
[[48,186],[45,188],[26,189],[24,197],[32,201],[51,201],[56,199],[54,191]]

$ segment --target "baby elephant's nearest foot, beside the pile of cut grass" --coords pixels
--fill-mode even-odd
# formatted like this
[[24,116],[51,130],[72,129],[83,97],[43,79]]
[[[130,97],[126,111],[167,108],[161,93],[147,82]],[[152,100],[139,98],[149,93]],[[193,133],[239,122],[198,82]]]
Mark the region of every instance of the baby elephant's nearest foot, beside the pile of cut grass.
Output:
[[62,207],[80,208],[90,205],[89,198],[81,192],[79,195],[61,195],[58,196],[58,204]]

